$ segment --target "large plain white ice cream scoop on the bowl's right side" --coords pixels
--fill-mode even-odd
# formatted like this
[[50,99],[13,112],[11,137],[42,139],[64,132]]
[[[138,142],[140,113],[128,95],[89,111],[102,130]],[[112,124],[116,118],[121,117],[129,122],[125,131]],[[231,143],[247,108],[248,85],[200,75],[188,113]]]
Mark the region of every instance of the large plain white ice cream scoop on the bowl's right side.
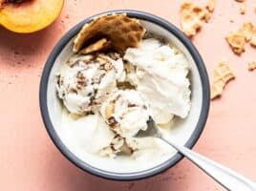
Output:
[[189,64],[182,53],[150,38],[143,40],[139,48],[127,49],[124,59],[136,67],[136,74],[127,74],[127,78],[149,102],[150,114],[156,123],[167,123],[174,115],[188,115]]

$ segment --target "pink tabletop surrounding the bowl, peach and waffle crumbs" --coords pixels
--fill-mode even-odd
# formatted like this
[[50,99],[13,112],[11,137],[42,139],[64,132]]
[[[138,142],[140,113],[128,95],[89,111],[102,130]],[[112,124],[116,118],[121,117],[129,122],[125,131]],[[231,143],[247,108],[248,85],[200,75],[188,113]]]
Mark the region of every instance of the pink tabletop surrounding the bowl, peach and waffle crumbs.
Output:
[[[201,1],[203,2],[203,1]],[[205,1],[204,1],[205,2]],[[48,29],[20,35],[0,28],[0,185],[1,190],[224,190],[187,159],[160,176],[139,181],[102,180],[77,169],[54,147],[44,128],[38,103],[44,63],[59,38],[78,21],[100,11],[149,11],[180,27],[180,0],[68,0]],[[256,2],[246,1],[246,14],[234,0],[217,0],[209,24],[193,42],[212,76],[215,64],[229,59],[237,78],[221,99],[211,103],[209,118],[195,150],[256,180],[256,71],[246,63],[256,60],[256,49],[234,55],[224,35],[245,21],[255,21]],[[230,23],[230,18],[234,23]],[[256,23],[255,23],[256,24]]]

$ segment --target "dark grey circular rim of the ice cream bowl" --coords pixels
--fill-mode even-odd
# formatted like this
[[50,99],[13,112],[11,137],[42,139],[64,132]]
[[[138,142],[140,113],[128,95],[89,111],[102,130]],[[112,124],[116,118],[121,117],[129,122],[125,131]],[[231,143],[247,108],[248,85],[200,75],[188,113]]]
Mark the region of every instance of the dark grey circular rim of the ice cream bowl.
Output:
[[83,21],[75,25],[75,27],[73,27],[69,32],[66,32],[63,35],[63,37],[58,41],[58,43],[55,45],[43,69],[43,73],[40,81],[40,89],[39,89],[39,102],[40,102],[41,116],[43,118],[43,122],[49,136],[52,138],[53,143],[58,148],[58,150],[62,153],[62,155],[64,155],[67,159],[69,159],[72,163],[74,163],[76,167],[90,174],[96,175],[97,177],[101,177],[108,180],[140,180],[140,179],[149,178],[169,169],[170,167],[174,166],[177,162],[179,162],[183,158],[183,156],[180,153],[177,153],[171,159],[168,159],[160,163],[158,166],[155,166],[147,170],[135,172],[135,173],[114,173],[114,172],[104,171],[101,169],[97,169],[94,166],[91,166],[90,164],[84,162],[81,159],[78,159],[75,156],[75,154],[73,154],[66,147],[66,145],[61,141],[61,139],[57,136],[56,131],[54,130],[53,123],[51,121],[51,118],[48,112],[47,92],[48,92],[48,79],[49,79],[51,70],[53,68],[55,59],[57,58],[59,53],[61,53],[63,48],[66,46],[66,44],[69,43],[70,40],[77,34],[77,32],[80,31],[80,29],[83,27],[85,23],[91,22],[96,16],[99,16],[102,14],[124,13],[124,12],[127,13],[127,15],[130,17],[135,17],[138,19],[155,23],[159,25],[161,28],[174,34],[185,46],[187,51],[191,54],[192,58],[195,61],[195,64],[197,65],[197,69],[200,74],[202,88],[203,88],[203,103],[202,103],[201,114],[197,122],[196,128],[193,131],[191,137],[184,144],[184,146],[188,148],[192,148],[196,144],[197,140],[200,138],[208,117],[209,106],[210,106],[209,79],[208,79],[208,74],[206,72],[203,59],[200,53],[198,53],[195,46],[192,44],[189,38],[187,38],[184,35],[183,32],[181,32],[177,27],[175,27],[173,24],[169,23],[165,19],[144,11],[116,10],[116,11],[105,11],[105,12],[98,13],[96,15],[93,15],[91,17],[84,19]]

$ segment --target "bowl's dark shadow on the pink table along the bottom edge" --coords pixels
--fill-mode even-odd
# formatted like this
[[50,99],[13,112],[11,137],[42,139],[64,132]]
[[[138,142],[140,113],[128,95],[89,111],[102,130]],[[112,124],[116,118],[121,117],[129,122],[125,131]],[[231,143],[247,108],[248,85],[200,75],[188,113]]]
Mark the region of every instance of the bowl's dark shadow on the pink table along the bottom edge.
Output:
[[[128,191],[128,190],[152,190],[152,191],[170,191],[170,190],[186,190],[186,183],[183,179],[183,166],[178,164],[174,168],[160,174],[159,176],[146,180],[137,181],[115,181],[104,180],[93,175],[83,172],[73,165],[68,159],[64,159],[61,154],[56,151],[51,154],[51,163],[59,161],[59,165],[51,166],[49,170],[53,173],[61,175],[60,182],[65,182],[65,190],[75,191]],[[180,166],[180,167],[179,167]],[[178,172],[179,171],[179,172]],[[179,185],[179,186],[178,186]]]

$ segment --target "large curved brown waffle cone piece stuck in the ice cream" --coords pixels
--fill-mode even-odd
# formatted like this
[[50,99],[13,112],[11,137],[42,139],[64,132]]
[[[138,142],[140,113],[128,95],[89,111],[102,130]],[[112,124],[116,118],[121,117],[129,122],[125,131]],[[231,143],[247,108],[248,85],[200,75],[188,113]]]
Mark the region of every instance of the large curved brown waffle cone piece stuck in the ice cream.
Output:
[[99,16],[85,24],[75,37],[73,51],[77,53],[92,39],[100,38],[110,40],[115,51],[125,51],[128,47],[138,47],[145,32],[138,19],[124,13]]

